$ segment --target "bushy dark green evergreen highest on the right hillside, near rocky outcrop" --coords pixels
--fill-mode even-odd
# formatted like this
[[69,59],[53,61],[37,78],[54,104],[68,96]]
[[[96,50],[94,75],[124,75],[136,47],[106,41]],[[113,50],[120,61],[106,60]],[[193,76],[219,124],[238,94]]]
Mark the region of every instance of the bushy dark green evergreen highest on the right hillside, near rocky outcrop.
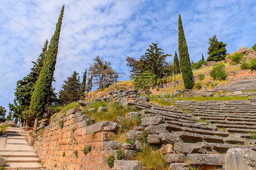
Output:
[[209,48],[207,54],[209,57],[206,61],[221,61],[225,59],[226,56],[226,45],[222,41],[218,41],[216,35],[213,35],[212,38],[209,38]]

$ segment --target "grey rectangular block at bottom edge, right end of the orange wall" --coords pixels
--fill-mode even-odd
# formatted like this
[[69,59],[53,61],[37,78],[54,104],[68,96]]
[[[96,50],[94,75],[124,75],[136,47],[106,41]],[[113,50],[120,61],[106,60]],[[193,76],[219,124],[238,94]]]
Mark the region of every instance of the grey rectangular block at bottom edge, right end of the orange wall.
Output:
[[143,170],[144,166],[138,160],[115,160],[113,170]]

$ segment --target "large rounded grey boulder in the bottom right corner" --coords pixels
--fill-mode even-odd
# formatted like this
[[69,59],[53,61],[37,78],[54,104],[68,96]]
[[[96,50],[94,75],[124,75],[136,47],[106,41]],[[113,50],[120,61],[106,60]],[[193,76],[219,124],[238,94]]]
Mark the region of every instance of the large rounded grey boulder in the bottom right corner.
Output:
[[256,170],[256,152],[252,149],[230,148],[225,156],[226,170]]

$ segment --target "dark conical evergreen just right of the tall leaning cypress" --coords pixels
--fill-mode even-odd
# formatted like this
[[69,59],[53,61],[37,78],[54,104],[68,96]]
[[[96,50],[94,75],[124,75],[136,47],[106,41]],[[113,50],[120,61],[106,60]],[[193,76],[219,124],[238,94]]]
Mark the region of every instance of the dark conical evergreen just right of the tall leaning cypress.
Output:
[[59,93],[59,98],[62,104],[68,104],[80,99],[81,94],[81,83],[80,77],[76,78],[78,73],[74,71],[71,77],[68,77],[67,81],[64,81],[65,84],[62,84],[62,89]]

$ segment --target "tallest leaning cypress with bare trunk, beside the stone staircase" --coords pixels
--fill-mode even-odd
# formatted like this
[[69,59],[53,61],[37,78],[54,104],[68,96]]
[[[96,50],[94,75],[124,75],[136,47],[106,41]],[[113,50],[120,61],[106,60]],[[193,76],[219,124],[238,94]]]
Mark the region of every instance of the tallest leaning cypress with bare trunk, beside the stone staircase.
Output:
[[55,70],[56,58],[58,53],[60,27],[62,24],[63,12],[64,12],[64,5],[62,6],[62,9],[60,11],[60,17],[56,24],[54,35],[51,38],[47,55],[44,59],[43,68],[40,71],[40,75],[36,81],[35,90],[31,97],[29,110],[32,114],[36,115],[33,135],[35,135],[36,133],[38,116],[41,116],[44,114],[44,107],[46,104],[46,100],[47,100],[47,97],[49,96],[49,92],[52,87],[53,73]]

